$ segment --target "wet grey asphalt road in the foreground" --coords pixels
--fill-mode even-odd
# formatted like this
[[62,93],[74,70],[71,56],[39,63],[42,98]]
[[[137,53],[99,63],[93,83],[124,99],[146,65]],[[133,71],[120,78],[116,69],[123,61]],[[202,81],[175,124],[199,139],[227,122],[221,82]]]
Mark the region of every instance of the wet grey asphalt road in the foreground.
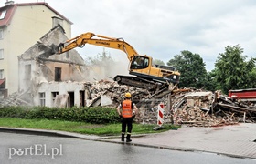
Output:
[[0,132],[0,163],[197,163],[254,164],[211,153],[175,151],[79,138]]

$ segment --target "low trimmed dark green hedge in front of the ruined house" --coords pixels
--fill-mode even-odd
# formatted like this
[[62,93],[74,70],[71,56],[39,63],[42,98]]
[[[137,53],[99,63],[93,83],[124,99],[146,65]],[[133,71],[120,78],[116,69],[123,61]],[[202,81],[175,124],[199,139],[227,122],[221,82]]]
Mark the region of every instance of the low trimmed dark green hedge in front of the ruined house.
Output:
[[93,124],[117,123],[120,121],[116,109],[102,107],[5,107],[0,108],[0,118],[58,119]]

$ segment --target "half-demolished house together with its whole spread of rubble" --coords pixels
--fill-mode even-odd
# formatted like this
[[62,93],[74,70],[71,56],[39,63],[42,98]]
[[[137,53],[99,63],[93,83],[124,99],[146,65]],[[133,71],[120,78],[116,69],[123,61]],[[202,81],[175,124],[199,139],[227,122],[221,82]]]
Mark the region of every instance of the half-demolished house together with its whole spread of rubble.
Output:
[[155,124],[159,103],[165,105],[165,123],[213,127],[256,120],[255,107],[233,103],[224,96],[204,90],[149,91],[113,81],[88,82],[90,70],[76,50],[50,56],[52,46],[67,39],[63,28],[56,26],[18,57],[18,94],[9,101],[0,102],[0,107],[1,104],[11,104],[116,108],[123,100],[123,93],[131,92],[140,110],[135,118],[139,123]]

